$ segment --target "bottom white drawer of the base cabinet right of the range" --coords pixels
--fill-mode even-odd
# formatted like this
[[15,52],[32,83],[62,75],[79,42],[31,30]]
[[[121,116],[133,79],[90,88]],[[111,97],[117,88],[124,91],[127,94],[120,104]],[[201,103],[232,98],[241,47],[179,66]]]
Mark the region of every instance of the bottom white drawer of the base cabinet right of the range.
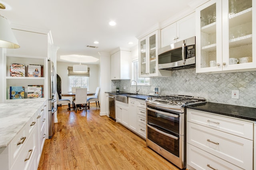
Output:
[[243,170],[187,143],[187,164],[196,170]]

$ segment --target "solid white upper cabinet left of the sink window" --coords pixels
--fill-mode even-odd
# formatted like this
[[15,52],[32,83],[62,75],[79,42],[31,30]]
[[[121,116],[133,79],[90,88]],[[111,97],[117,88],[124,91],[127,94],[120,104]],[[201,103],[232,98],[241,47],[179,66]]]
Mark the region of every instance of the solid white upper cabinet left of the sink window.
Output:
[[111,80],[130,79],[131,52],[118,48],[111,55]]

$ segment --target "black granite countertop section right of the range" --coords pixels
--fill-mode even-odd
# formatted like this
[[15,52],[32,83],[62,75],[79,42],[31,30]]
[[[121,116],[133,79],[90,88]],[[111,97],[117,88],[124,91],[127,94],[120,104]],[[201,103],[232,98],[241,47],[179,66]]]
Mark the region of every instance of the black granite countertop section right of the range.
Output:
[[244,107],[244,106],[235,106],[235,105],[207,102],[204,104],[186,106],[186,108],[206,111],[210,113],[216,113],[219,115],[226,115],[230,117],[236,117],[240,119],[246,119],[250,121],[256,121],[255,107]]

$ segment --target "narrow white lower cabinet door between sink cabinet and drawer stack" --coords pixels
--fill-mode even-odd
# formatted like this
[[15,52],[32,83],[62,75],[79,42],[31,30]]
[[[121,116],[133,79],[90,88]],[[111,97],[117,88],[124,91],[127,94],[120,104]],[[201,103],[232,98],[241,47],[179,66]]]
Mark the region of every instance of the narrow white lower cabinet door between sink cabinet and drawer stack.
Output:
[[128,98],[129,105],[129,128],[137,131],[137,99]]

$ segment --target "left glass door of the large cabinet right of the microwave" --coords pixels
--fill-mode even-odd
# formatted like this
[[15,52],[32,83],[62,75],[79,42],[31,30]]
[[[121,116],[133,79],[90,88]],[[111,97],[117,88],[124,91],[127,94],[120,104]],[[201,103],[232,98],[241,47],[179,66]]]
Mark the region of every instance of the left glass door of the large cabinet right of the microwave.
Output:
[[197,72],[222,69],[221,14],[221,1],[219,0],[212,0],[197,10]]

